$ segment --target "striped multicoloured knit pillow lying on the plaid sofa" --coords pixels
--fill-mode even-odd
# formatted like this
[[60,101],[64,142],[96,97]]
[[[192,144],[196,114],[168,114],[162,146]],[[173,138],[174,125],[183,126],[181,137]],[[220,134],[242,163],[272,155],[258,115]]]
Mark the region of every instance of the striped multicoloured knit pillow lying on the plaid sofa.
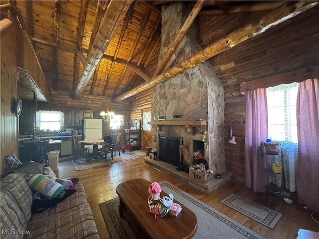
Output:
[[28,185],[34,191],[48,198],[60,197],[64,191],[63,186],[43,174],[35,174],[28,180]]

